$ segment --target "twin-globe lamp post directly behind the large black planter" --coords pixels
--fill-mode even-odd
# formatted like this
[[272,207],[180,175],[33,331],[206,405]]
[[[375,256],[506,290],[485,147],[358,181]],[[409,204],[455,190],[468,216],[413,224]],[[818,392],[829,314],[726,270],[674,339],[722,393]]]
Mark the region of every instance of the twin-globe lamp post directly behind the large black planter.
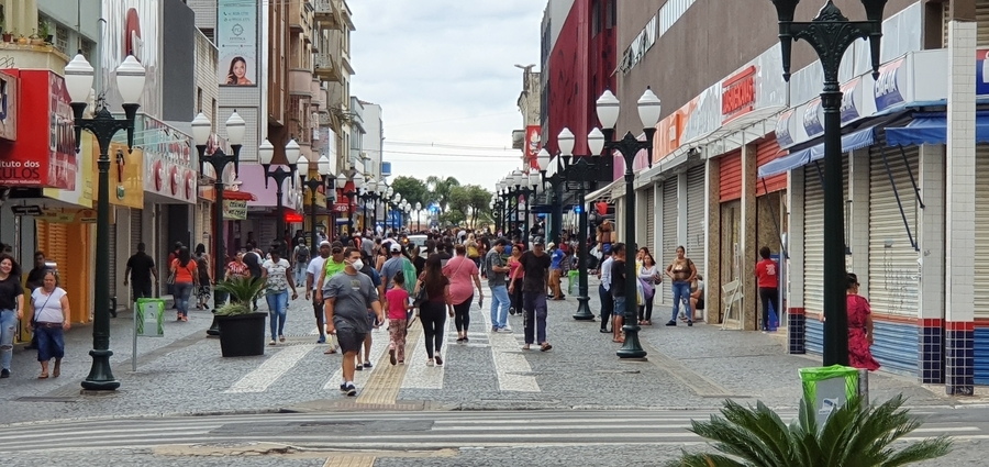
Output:
[[[223,173],[227,164],[234,165],[234,174],[240,171],[241,143],[244,141],[244,132],[247,130],[247,124],[237,114],[236,110],[226,119],[226,136],[230,147],[233,149],[232,155],[227,155],[220,148],[207,155],[207,143],[210,141],[212,129],[213,124],[202,112],[192,120],[192,140],[196,143],[196,149],[199,151],[199,173],[204,174],[204,164],[209,164],[213,167],[213,174],[215,175],[213,179],[213,191],[216,198],[213,201],[213,280],[220,283],[223,281],[223,276],[226,271],[226,265],[223,262],[225,257],[223,253],[225,249],[223,246]],[[223,307],[225,301],[225,293],[213,291],[213,323],[207,330],[207,335],[220,335],[220,323],[216,321],[215,313],[220,307]]]

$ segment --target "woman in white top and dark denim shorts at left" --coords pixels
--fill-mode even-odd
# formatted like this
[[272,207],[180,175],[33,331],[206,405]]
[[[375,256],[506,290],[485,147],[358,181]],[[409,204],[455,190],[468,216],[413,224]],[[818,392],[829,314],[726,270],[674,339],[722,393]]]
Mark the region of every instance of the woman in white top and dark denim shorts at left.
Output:
[[31,292],[32,321],[37,333],[37,362],[42,373],[37,379],[48,378],[48,362],[55,359],[52,377],[58,378],[62,373],[62,358],[65,357],[64,332],[71,327],[69,320],[68,297],[65,289],[57,286],[55,271],[45,270],[42,287]]

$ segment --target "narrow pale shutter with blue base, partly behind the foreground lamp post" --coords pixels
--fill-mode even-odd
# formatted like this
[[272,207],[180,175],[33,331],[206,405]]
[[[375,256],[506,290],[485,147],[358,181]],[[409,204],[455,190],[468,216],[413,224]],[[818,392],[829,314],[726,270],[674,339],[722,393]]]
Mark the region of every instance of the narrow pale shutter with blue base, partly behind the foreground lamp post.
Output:
[[[820,171],[819,171],[820,168]],[[803,167],[803,308],[809,314],[824,315],[824,187],[821,177],[824,160]],[[842,192],[848,192],[848,158],[842,157]],[[843,196],[846,199],[847,196]],[[847,226],[846,226],[847,229]],[[807,349],[821,354],[824,327],[820,319],[807,323]]]

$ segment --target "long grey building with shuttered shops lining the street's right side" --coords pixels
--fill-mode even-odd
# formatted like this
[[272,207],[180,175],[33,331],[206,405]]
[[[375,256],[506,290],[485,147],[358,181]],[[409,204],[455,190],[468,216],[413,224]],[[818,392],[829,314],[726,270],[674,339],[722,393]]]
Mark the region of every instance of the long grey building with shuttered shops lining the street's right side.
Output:
[[[864,18],[858,1],[834,3]],[[801,3],[798,21],[819,7]],[[788,349],[820,354],[823,77],[811,47],[794,43],[794,71],[782,80],[776,21],[771,4],[756,0],[619,4],[616,133],[641,132],[636,100],[652,87],[663,116],[652,160],[636,160],[645,221],[636,238],[663,264],[686,247],[704,276],[704,319],[758,329],[752,271],[768,246],[784,271],[778,313]],[[977,229],[989,204],[975,184],[985,141],[980,47],[989,49],[989,2],[891,0],[878,80],[864,41],[840,76],[846,265],[871,301],[874,355],[886,370],[960,394],[989,383],[989,312],[978,300],[989,283],[978,266],[989,237]],[[722,287],[734,283],[743,298],[725,314]],[[657,294],[660,309],[671,305],[668,289]]]

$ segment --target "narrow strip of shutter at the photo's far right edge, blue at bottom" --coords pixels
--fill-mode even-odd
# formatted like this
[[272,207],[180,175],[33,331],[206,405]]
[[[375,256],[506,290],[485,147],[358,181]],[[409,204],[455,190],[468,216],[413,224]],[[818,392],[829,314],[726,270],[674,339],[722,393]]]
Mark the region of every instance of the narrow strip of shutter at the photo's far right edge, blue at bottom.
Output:
[[[976,146],[976,180],[989,177],[989,144]],[[976,184],[976,248],[975,248],[976,320],[989,319],[989,184]],[[989,327],[975,330],[975,382],[989,385]]]

